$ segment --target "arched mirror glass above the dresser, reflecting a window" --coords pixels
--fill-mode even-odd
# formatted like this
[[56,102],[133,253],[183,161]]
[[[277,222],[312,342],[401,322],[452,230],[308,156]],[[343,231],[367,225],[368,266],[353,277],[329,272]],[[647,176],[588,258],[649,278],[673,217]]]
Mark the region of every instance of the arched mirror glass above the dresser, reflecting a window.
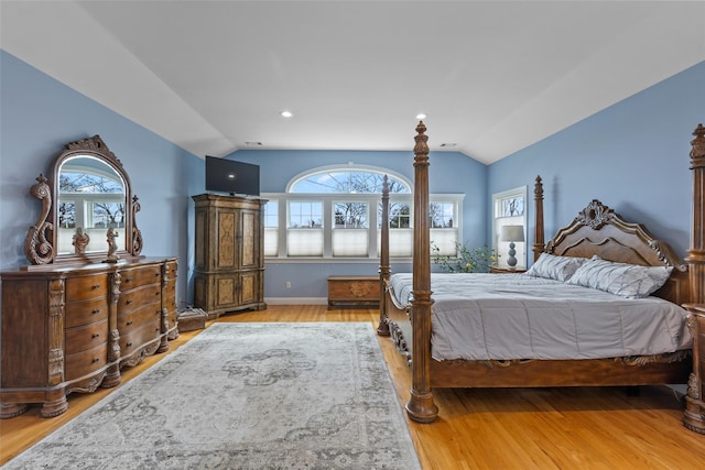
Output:
[[108,251],[108,229],[117,250],[126,249],[126,184],[90,155],[65,160],[58,173],[58,254]]

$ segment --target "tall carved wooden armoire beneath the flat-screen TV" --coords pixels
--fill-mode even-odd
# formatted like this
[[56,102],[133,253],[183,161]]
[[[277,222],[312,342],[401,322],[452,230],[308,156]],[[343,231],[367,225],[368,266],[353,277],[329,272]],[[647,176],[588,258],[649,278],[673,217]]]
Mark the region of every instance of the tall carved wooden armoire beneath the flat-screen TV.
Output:
[[194,304],[208,319],[262,310],[263,210],[267,199],[202,194],[196,204]]

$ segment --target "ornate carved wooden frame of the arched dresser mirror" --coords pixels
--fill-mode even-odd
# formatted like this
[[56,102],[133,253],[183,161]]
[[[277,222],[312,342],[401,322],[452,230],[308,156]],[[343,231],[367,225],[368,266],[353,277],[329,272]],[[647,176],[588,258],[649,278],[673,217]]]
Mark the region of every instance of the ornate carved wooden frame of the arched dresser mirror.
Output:
[[[30,188],[30,194],[42,201],[42,212],[36,223],[30,227],[24,240],[24,253],[33,265],[58,263],[117,262],[121,256],[138,256],[142,251],[142,233],[137,228],[135,214],[140,210],[139,198],[132,195],[130,177],[122,163],[105,144],[100,135],[69,142],[64,145],[52,164],[52,181],[43,175]],[[62,165],[70,157],[87,155],[100,160],[124,182],[124,249],[113,253],[95,251],[87,253],[57,253],[58,248],[58,195]],[[50,186],[51,184],[51,186]],[[53,196],[52,196],[53,195]]]

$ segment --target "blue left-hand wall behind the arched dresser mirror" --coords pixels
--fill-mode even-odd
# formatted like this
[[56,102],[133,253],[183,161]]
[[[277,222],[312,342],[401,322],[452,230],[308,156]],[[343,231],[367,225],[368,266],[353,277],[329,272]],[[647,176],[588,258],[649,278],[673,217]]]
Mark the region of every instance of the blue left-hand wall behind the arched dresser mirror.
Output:
[[35,178],[48,175],[65,143],[100,134],[140,198],[142,254],[178,256],[177,296],[185,300],[191,243],[184,234],[189,195],[203,192],[203,161],[4,51],[0,69],[0,269],[26,264],[24,237],[41,209],[29,194]]

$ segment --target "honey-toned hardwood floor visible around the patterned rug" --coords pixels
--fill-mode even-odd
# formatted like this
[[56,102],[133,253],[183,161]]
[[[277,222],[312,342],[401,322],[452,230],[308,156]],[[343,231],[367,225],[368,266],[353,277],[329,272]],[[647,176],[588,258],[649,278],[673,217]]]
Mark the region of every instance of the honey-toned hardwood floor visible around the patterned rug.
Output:
[[[378,310],[274,305],[217,321],[370,321],[377,327]],[[170,352],[198,332],[182,334]],[[410,371],[391,341],[379,340],[403,407]],[[123,369],[123,383],[164,357]],[[68,411],[55,418],[40,417],[33,406],[22,416],[0,420],[0,464],[112,390],[69,395]],[[441,389],[434,397],[441,409],[435,423],[409,422],[424,470],[705,468],[705,436],[682,426],[683,406],[668,387],[642,387],[638,396],[621,387]]]

